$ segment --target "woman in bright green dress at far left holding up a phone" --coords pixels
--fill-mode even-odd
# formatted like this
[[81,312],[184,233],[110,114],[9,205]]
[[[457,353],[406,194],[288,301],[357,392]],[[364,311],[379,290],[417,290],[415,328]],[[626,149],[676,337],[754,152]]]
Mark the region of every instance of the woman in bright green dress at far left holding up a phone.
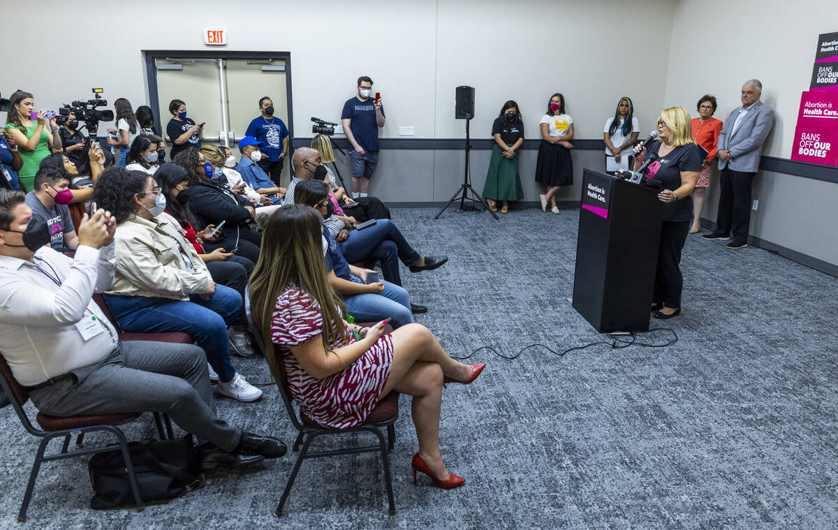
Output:
[[18,171],[20,185],[23,190],[32,191],[41,160],[61,148],[61,135],[55,117],[48,118],[44,109],[36,113],[37,121],[33,120],[32,94],[16,91],[9,97],[9,106],[6,134],[18,143],[23,158],[23,167]]

